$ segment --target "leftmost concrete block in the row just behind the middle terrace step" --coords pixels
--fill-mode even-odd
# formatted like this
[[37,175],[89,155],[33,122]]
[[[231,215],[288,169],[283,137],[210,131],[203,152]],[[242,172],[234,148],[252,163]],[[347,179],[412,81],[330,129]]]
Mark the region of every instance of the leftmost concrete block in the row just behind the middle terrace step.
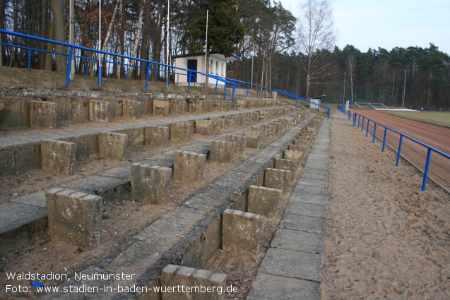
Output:
[[75,171],[76,143],[41,140],[42,170],[57,176],[71,176]]

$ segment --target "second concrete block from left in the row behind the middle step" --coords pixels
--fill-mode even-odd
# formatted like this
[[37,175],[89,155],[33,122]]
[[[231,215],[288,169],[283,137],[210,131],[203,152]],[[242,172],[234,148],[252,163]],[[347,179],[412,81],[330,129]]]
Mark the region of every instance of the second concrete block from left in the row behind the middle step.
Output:
[[98,152],[100,158],[124,160],[128,148],[128,136],[114,132],[98,133]]

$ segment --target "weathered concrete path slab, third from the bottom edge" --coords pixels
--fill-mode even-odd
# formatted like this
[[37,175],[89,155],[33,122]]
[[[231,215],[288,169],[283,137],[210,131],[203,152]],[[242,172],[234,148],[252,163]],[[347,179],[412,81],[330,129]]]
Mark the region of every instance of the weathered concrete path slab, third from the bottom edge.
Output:
[[271,247],[311,253],[324,253],[324,234],[278,228]]

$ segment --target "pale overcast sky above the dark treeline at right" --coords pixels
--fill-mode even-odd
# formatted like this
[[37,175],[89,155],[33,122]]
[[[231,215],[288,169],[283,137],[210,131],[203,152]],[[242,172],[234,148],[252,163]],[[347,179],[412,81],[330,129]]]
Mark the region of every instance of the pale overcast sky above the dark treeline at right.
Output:
[[[297,16],[301,0],[279,0]],[[450,54],[450,0],[334,0],[337,45],[362,52],[378,47],[428,47]]]

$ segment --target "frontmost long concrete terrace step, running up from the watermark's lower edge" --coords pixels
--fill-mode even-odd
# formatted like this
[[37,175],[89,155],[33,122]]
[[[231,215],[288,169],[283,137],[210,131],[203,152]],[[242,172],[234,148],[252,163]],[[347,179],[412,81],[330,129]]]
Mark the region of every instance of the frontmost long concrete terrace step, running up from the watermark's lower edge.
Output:
[[[314,119],[309,116],[292,127],[278,140],[270,143],[256,155],[227,172],[217,181],[201,189],[181,206],[162,215],[158,220],[141,230],[133,239],[113,248],[107,255],[81,270],[85,275],[135,274],[133,280],[70,280],[63,287],[110,287],[111,292],[46,294],[43,299],[160,299],[158,293],[118,293],[117,285],[123,287],[155,287],[167,264],[202,268],[208,256],[220,246],[220,222],[223,211],[236,205],[242,193],[254,184],[265,169],[280,157],[292,140]],[[223,139],[224,136],[218,136]],[[201,145],[203,147],[203,145]]]

